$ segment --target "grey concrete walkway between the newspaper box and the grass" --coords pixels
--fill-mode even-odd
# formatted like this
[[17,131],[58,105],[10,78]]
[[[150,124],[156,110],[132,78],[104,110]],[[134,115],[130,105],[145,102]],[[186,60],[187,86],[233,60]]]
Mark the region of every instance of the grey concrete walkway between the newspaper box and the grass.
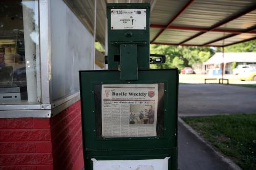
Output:
[[178,123],[178,169],[180,170],[228,170],[229,165],[212,150]]

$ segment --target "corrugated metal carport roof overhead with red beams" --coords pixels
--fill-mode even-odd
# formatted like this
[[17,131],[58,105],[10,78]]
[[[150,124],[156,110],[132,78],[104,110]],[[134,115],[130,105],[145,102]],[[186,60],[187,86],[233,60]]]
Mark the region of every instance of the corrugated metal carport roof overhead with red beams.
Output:
[[[63,1],[93,33],[94,0]],[[255,0],[98,0],[96,40],[102,45],[106,3],[151,3],[152,43],[223,46],[256,39]]]

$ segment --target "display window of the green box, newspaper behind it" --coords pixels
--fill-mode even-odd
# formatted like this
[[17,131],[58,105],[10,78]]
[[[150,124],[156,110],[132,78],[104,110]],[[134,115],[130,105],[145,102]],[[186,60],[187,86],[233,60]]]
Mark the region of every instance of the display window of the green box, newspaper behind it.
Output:
[[[123,91],[124,86],[127,86],[127,87],[129,86],[129,89],[133,89],[134,88],[133,86],[136,86],[137,87],[136,89],[137,90],[139,89],[138,91],[140,92],[143,91],[140,88],[138,88],[137,85],[138,84],[120,84],[121,87],[116,87],[116,89],[120,88],[120,91]],[[155,93],[158,94],[155,96],[155,98],[157,99],[157,102],[155,104],[145,104],[145,103],[136,104],[134,100],[127,100],[129,102],[126,103],[125,101],[126,97],[123,97],[122,94],[120,93],[119,93],[119,95],[121,96],[120,98],[122,98],[123,100],[115,100],[115,102],[113,102],[114,100],[111,101],[112,99],[111,93],[113,93],[113,90],[103,91],[103,93],[106,93],[107,98],[109,98],[110,96],[109,98],[110,102],[108,101],[107,103],[102,104],[102,96],[103,96],[102,87],[104,86],[108,86],[105,88],[109,88],[109,89],[113,87],[112,85],[104,85],[104,84],[103,85],[97,84],[94,86],[95,121],[96,121],[95,126],[96,126],[96,135],[98,137],[143,137],[143,136],[145,137],[145,136],[163,136],[164,135],[164,83],[157,84],[157,91],[155,92],[154,90],[150,91],[152,93],[152,96],[148,97],[150,99],[154,99],[153,96],[155,96]],[[142,89],[146,89],[146,88],[143,87]],[[147,91],[147,90],[144,90],[144,91]],[[147,93],[145,93],[145,95],[150,96],[150,94],[147,94]],[[131,97],[128,97],[128,98],[132,99]],[[121,101],[121,102],[118,103],[116,101]],[[143,101],[141,100],[138,102],[143,102]],[[109,108],[111,109],[110,110],[109,108],[105,110],[104,108],[102,109],[102,106],[104,105],[106,107],[109,106]],[[157,105],[157,109],[156,109],[156,105]],[[154,110],[154,112],[152,113],[151,110]],[[104,111],[108,113],[104,115]],[[103,120],[108,125],[104,126],[103,125],[104,123],[102,122]],[[103,135],[104,131],[106,132],[105,135]],[[156,132],[156,135],[154,134],[154,131]]]

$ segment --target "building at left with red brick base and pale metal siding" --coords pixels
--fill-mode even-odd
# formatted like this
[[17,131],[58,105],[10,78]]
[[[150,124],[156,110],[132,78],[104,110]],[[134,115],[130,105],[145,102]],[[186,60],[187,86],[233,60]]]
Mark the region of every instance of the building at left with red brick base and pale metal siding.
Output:
[[104,67],[105,33],[66,3],[0,1],[0,169],[83,168],[78,70]]

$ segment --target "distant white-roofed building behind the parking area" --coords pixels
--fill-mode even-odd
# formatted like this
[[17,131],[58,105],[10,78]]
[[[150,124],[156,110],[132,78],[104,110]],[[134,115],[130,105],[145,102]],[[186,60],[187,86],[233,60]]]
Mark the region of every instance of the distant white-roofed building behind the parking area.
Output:
[[208,74],[210,69],[221,68],[222,62],[225,74],[232,74],[233,62],[236,62],[237,65],[256,66],[256,53],[224,53],[224,58],[222,58],[222,53],[215,53],[206,62],[194,64],[192,67],[197,74]]

